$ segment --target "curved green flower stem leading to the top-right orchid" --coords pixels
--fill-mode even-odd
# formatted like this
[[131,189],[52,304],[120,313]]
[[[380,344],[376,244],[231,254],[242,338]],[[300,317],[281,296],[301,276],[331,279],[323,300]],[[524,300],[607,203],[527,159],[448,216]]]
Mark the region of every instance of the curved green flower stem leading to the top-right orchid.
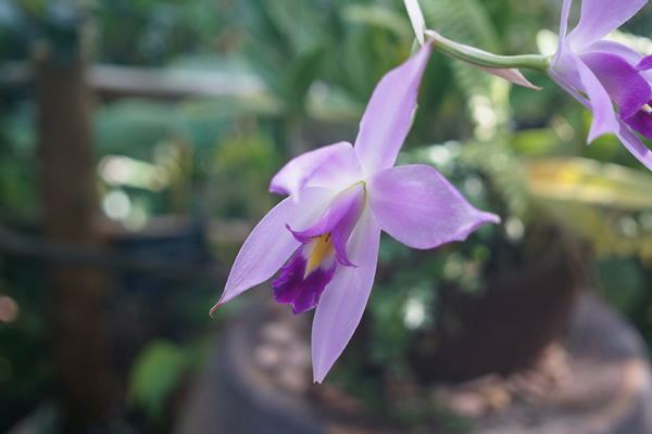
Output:
[[426,30],[432,48],[452,58],[468,62],[476,66],[489,68],[526,68],[547,73],[550,56],[539,54],[497,55],[475,47],[465,46],[444,38],[432,30]]

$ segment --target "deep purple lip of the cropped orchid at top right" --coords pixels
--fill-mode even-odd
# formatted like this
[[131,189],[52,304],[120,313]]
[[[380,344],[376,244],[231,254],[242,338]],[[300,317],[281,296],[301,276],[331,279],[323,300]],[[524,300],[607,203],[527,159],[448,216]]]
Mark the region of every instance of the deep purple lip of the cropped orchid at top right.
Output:
[[652,97],[650,84],[625,59],[597,51],[581,54],[579,59],[598,77],[610,98],[618,105],[622,119],[634,115]]

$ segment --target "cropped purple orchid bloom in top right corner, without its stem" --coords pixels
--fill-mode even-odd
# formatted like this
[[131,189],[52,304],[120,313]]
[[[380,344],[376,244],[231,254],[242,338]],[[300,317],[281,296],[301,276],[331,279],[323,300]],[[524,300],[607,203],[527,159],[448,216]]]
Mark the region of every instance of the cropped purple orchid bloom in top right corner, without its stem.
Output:
[[582,0],[579,23],[566,36],[572,2],[564,0],[550,76],[593,113],[589,142],[613,132],[652,170],[652,152],[634,132],[652,139],[652,56],[643,58],[620,43],[602,40],[648,0]]

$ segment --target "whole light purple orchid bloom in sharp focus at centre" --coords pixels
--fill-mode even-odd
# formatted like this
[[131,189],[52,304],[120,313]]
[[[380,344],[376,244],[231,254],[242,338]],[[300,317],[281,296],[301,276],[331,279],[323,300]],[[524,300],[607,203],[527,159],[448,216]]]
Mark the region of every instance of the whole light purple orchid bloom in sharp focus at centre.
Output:
[[432,248],[500,221],[473,207],[432,167],[393,167],[430,51],[430,44],[424,46],[380,80],[355,146],[339,142],[319,148],[276,174],[269,190],[289,197],[251,232],[211,309],[212,315],[280,269],[272,282],[276,301],[292,305],[294,314],[316,306],[316,382],[324,380],[360,322],[374,282],[380,230],[411,247]]

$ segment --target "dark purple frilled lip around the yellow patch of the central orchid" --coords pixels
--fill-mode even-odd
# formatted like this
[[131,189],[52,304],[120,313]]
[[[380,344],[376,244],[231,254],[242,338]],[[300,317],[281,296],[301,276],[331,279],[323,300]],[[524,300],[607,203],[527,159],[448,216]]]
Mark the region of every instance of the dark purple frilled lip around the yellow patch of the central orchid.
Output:
[[[312,241],[313,244],[317,242],[318,240]],[[305,268],[312,250],[314,250],[314,245],[304,244],[299,247],[292,259],[280,268],[278,279],[272,281],[276,302],[291,305],[294,315],[302,314],[317,305],[324,288],[333,280],[337,268],[333,252],[306,276]]]

